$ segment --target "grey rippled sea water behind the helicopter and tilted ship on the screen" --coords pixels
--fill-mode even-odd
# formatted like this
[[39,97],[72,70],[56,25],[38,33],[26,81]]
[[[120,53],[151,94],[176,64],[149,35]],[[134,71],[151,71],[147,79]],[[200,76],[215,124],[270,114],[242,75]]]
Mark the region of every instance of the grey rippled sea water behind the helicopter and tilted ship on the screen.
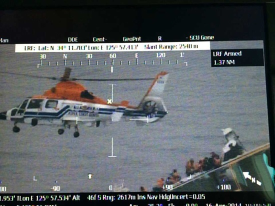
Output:
[[[61,54],[47,53],[37,68],[39,53],[13,51],[14,45],[1,45],[0,71],[62,76],[65,66],[54,66],[56,61],[63,62]],[[122,120],[106,127],[79,126],[78,138],[73,137],[73,129],[58,135],[54,125],[18,124],[20,132],[13,133],[12,122],[0,121],[0,181],[6,192],[52,192],[57,185],[60,192],[100,192],[109,191],[109,185],[122,180],[130,191],[138,191],[140,186],[150,190],[158,178],[167,177],[174,168],[184,177],[189,158],[198,160],[211,151],[220,154],[225,143],[222,128],[235,130],[246,150],[269,141],[262,66],[211,68],[209,51],[186,51],[184,59],[169,51],[162,64],[155,52],[140,53],[140,64],[136,65],[134,52],[127,52],[117,56],[110,73],[110,64],[103,64],[108,55],[96,55],[99,65],[94,59],[90,66],[87,62],[85,66],[71,65],[71,76],[154,77],[165,70],[169,77],[162,98],[168,114],[144,126]],[[67,62],[79,63],[79,59],[84,62],[84,54],[73,53]],[[149,63],[144,64],[144,60]],[[42,94],[57,82],[0,73],[0,111],[20,104],[27,96]],[[110,83],[115,83],[113,100],[129,100],[132,105],[139,103],[151,84],[150,80],[79,82],[105,99],[111,95]],[[112,138],[116,157],[108,157]],[[92,179],[88,173],[93,173]]]

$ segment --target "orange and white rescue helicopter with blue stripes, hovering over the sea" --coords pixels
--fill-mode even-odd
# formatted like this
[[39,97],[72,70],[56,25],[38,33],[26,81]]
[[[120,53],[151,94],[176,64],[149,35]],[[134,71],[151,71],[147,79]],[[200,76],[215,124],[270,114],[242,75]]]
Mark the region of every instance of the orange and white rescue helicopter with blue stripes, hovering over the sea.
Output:
[[168,73],[165,71],[158,73],[154,79],[147,78],[153,79],[153,82],[137,106],[129,105],[127,100],[115,103],[110,99],[105,100],[93,95],[75,80],[106,79],[70,78],[70,72],[71,68],[66,67],[63,77],[54,87],[42,95],[33,95],[24,99],[17,107],[0,112],[0,119],[14,121],[13,132],[20,131],[18,123],[29,123],[32,126],[54,124],[59,127],[58,134],[62,134],[65,128],[74,126],[73,136],[78,137],[80,123],[98,127],[100,122],[107,125],[121,120],[123,116],[125,120],[135,120],[137,124],[145,124],[157,121],[167,114],[160,97],[168,78]]

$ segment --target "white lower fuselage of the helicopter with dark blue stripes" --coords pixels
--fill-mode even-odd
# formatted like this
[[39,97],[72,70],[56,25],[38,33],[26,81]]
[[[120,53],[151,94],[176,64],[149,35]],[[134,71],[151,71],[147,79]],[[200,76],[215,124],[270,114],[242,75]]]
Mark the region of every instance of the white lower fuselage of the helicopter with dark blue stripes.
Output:
[[[18,107],[7,110],[6,119],[16,123],[31,123],[37,119],[37,124],[92,126],[96,121],[119,121],[124,116],[153,122],[163,117],[166,111],[154,111],[150,115],[144,110],[127,107],[127,102],[120,105],[90,103],[66,99],[26,98]],[[127,119],[128,117],[128,119]],[[35,121],[36,122],[36,121]],[[37,125],[35,124],[35,125]],[[35,126],[34,125],[34,126]]]

